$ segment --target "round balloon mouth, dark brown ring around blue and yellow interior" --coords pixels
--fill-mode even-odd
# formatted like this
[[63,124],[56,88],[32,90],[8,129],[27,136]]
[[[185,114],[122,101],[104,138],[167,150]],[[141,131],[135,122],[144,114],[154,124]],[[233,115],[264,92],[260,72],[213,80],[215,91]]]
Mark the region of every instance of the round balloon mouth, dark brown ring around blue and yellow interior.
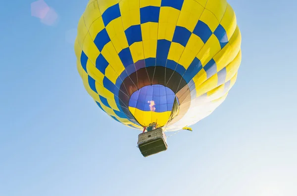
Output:
[[[145,61],[140,61],[137,65],[139,67],[146,64]],[[137,125],[144,127],[157,121],[160,126],[166,123],[170,123],[170,126],[183,118],[190,108],[190,86],[175,70],[149,66],[126,73],[122,77],[124,79],[120,82],[118,92],[119,105],[129,120]],[[174,103],[180,105],[180,109],[178,108],[178,115],[172,117]]]

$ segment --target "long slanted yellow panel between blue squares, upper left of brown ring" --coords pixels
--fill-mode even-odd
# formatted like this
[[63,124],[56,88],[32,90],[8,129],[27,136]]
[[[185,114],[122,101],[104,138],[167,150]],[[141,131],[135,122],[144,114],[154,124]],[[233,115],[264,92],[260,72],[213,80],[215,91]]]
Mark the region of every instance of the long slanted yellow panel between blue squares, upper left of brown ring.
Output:
[[111,41],[103,47],[101,53],[118,76],[125,70],[125,67]]

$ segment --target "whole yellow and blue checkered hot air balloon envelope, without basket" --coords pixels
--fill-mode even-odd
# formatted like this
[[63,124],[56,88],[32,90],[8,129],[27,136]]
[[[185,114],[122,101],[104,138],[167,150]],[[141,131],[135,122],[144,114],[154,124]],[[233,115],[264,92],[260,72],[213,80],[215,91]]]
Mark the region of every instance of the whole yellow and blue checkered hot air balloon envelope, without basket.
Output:
[[86,90],[107,115],[132,128],[157,121],[174,131],[225,100],[241,63],[241,34],[226,0],[90,0],[75,52]]

